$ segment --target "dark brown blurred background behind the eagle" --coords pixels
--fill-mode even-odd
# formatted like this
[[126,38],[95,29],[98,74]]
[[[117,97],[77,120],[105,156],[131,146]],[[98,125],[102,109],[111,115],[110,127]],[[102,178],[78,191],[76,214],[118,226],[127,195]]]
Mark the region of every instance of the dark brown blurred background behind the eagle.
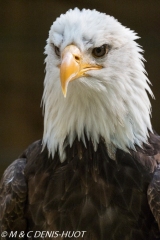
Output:
[[0,1],[0,176],[43,134],[40,108],[44,46],[53,21],[69,8],[96,8],[135,30],[141,39],[156,101],[152,124],[160,133],[160,0]]

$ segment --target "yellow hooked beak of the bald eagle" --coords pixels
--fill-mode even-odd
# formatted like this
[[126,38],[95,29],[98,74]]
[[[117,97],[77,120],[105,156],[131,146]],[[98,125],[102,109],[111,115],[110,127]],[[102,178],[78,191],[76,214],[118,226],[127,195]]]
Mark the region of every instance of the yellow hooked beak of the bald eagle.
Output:
[[82,54],[75,45],[67,46],[62,52],[62,62],[60,65],[60,79],[64,97],[66,97],[70,81],[87,76],[86,72],[89,70],[101,68],[99,65],[91,65],[83,62]]

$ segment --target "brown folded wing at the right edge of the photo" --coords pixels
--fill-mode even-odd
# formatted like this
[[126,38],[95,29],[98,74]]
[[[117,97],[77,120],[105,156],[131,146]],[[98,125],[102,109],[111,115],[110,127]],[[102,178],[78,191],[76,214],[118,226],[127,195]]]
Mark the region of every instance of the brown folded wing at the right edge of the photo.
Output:
[[134,157],[151,173],[148,204],[160,229],[160,136],[155,131],[150,133],[149,143],[134,153]]

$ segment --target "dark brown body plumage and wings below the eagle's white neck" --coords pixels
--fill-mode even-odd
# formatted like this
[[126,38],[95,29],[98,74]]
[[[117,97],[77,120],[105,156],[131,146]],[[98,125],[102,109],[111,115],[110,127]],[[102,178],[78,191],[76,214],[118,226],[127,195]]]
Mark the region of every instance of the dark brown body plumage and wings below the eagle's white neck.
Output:
[[41,141],[33,143],[4,173],[1,231],[79,230],[86,231],[85,240],[160,239],[160,137],[151,134],[149,142],[131,154],[117,150],[114,161],[103,140],[96,152],[90,141],[86,148],[76,140],[66,147],[64,163],[57,153],[48,158]]

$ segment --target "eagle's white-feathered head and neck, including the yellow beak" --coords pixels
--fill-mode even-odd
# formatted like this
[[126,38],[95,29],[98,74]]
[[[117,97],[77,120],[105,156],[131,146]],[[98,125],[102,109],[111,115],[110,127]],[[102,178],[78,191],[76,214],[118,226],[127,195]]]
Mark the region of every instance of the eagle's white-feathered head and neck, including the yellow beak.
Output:
[[[136,33],[114,17],[75,8],[51,26],[45,48],[43,146],[65,160],[75,137],[96,150],[106,145],[128,151],[147,142],[153,96]],[[64,144],[65,142],[65,144]]]

